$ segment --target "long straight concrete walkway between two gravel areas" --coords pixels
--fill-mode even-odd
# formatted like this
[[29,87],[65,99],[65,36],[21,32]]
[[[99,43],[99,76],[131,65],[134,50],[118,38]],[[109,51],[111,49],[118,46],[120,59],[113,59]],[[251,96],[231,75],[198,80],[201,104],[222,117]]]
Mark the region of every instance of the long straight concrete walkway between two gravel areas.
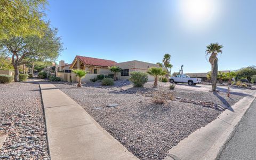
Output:
[[68,95],[39,85],[51,159],[137,159]]

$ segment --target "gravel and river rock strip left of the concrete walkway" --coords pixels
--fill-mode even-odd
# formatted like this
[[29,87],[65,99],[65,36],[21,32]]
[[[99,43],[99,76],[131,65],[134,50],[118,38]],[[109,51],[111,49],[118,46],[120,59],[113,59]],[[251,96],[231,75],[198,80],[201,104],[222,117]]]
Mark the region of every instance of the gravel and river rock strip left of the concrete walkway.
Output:
[[0,132],[0,159],[50,159],[38,84],[0,84]]

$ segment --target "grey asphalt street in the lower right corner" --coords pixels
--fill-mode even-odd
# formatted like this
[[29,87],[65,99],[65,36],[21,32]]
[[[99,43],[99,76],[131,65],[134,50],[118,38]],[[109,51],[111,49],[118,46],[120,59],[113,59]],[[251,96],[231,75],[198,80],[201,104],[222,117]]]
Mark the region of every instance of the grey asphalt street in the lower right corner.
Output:
[[218,159],[255,159],[256,157],[256,100],[236,127]]

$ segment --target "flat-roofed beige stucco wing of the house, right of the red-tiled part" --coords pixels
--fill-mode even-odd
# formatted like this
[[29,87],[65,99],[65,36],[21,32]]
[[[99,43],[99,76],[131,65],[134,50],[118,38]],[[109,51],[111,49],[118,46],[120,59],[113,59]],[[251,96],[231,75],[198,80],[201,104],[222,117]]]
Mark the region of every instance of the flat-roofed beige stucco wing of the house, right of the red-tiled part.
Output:
[[[117,76],[118,79],[122,80],[129,79],[133,71],[140,71],[146,73],[146,71],[150,67],[159,67],[159,65],[153,63],[142,62],[137,60],[116,63],[115,66],[119,66],[120,68],[122,68],[121,73],[119,73]],[[154,77],[148,75],[148,81],[154,81]]]

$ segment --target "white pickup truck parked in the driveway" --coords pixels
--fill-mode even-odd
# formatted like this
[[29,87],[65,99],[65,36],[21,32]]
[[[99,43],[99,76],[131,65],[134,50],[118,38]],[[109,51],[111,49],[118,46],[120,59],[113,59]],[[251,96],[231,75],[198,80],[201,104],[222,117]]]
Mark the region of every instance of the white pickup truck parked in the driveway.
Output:
[[185,74],[177,75],[175,77],[170,77],[171,83],[188,83],[188,85],[196,85],[197,83],[201,83],[201,78],[190,78]]

